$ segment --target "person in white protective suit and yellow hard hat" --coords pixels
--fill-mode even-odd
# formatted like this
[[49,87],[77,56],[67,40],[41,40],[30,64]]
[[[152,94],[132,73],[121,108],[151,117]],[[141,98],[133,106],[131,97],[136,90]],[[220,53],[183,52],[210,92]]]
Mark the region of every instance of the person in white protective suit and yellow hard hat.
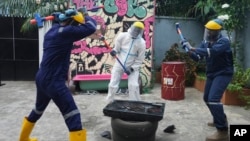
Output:
[[146,43],[142,38],[143,31],[143,23],[134,22],[127,32],[120,33],[115,40],[115,47],[110,54],[120,60],[125,70],[116,60],[111,72],[108,95],[106,97],[108,102],[114,100],[114,95],[119,88],[124,72],[128,75],[129,100],[141,100],[138,79],[146,51]]

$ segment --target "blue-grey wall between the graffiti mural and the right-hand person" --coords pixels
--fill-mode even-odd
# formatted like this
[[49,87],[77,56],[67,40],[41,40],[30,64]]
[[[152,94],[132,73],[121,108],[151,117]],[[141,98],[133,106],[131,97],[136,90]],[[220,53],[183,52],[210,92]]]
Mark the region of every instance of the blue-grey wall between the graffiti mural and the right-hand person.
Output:
[[154,23],[154,69],[161,66],[165,52],[174,43],[180,42],[175,23],[179,23],[183,36],[197,46],[203,39],[204,26],[194,19],[156,16]]

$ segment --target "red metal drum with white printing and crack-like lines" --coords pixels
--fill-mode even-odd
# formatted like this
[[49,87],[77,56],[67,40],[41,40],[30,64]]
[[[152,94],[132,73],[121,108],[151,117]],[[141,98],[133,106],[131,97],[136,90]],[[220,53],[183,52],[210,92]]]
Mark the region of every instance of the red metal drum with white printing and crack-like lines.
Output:
[[185,62],[163,62],[161,73],[161,97],[166,100],[184,99]]

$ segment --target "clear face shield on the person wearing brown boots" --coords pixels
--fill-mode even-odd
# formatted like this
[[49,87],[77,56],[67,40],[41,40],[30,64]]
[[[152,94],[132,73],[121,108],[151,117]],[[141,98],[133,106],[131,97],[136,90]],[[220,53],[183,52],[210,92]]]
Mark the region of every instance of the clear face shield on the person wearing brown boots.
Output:
[[220,30],[210,30],[210,29],[205,28],[204,40],[208,42],[214,42],[219,38],[220,33],[221,33]]

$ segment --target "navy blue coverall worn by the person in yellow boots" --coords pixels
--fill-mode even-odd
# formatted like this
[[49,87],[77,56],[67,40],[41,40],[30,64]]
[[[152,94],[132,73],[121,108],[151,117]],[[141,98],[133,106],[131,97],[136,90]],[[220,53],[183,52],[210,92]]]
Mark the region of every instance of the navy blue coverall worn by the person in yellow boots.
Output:
[[69,131],[82,129],[80,112],[65,82],[68,77],[69,59],[73,42],[96,31],[96,21],[85,17],[85,24],[53,24],[45,34],[43,58],[36,74],[37,96],[35,108],[28,120],[36,122],[52,99],[59,108]]

